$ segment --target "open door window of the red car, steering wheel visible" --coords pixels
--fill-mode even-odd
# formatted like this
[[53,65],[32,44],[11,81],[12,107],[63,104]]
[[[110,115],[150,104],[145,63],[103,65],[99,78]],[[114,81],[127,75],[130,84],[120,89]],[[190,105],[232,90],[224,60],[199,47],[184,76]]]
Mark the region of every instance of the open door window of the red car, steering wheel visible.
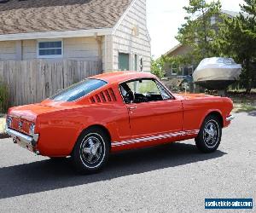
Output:
[[121,83],[120,91],[126,104],[164,100],[159,86],[153,79],[138,79]]

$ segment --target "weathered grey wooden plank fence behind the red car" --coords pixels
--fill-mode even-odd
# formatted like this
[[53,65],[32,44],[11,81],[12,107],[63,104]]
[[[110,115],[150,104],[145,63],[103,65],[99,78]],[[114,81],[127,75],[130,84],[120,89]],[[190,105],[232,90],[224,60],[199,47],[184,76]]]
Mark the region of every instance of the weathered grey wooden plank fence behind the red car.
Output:
[[102,61],[0,61],[0,79],[9,84],[11,106],[35,103],[84,78],[102,73]]

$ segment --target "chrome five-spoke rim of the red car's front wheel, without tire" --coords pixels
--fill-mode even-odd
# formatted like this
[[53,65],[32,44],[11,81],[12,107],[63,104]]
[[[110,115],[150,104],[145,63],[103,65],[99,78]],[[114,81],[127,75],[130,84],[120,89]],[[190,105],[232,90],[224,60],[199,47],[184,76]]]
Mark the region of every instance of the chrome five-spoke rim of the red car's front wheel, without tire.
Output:
[[209,120],[203,130],[203,140],[207,147],[215,147],[218,143],[219,128],[215,120]]

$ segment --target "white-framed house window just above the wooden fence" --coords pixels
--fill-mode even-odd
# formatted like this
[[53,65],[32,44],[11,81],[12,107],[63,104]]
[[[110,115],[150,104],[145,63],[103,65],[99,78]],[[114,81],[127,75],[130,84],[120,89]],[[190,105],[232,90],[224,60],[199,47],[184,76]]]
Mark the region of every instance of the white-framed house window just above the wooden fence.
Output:
[[38,58],[61,58],[63,44],[61,40],[38,41]]

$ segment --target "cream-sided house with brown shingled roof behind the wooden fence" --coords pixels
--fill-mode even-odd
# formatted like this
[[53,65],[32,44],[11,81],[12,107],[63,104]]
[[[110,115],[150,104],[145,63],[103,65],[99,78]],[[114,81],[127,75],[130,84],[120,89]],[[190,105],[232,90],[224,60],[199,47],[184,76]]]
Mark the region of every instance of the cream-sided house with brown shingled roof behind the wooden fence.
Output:
[[146,0],[1,2],[0,60],[100,60],[103,72],[150,70]]

